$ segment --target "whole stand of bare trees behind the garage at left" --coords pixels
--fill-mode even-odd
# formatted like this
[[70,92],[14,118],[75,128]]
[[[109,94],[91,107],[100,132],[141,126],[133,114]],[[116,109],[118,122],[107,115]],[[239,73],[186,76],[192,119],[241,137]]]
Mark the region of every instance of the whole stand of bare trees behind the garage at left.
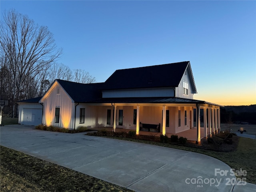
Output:
[[5,12],[0,24],[0,98],[4,112],[17,113],[16,102],[42,96],[55,79],[96,82],[89,72],[58,63],[62,49],[47,26],[39,26],[15,10]]

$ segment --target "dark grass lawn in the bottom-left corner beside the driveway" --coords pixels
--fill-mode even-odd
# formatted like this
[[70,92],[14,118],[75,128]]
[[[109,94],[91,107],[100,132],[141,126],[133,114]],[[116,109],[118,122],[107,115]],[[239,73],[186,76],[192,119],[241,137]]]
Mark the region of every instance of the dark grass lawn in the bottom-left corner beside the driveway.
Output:
[[3,146],[0,150],[1,192],[132,191]]

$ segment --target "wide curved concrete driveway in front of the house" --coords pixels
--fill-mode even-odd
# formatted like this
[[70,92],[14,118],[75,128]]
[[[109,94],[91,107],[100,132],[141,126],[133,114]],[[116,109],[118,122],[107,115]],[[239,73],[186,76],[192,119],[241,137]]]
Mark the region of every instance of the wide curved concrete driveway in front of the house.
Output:
[[22,125],[0,127],[0,144],[138,192],[256,189],[233,186],[231,168],[220,160],[172,148]]

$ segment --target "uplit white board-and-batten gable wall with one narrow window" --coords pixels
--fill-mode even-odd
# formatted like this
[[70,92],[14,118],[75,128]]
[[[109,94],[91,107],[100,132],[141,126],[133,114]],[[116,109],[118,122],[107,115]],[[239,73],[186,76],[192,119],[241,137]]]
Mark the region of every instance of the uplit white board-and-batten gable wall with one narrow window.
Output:
[[[62,128],[74,128],[74,103],[66,92],[57,84],[47,98],[42,101],[44,104],[43,124],[46,126],[57,126]],[[60,108],[59,122],[55,122],[55,109]]]

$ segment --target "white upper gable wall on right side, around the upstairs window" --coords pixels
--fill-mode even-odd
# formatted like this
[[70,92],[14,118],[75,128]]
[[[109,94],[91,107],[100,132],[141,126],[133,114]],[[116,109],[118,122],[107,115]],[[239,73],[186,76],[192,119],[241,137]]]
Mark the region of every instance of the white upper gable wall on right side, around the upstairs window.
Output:
[[[187,74],[187,75],[186,75]],[[188,94],[183,94],[183,83],[186,82],[188,83]],[[180,84],[178,87],[176,87],[176,97],[180,97],[180,98],[186,98],[186,99],[193,99],[194,97],[194,93],[193,93],[193,90],[192,90],[192,82],[190,81],[190,78],[189,78],[189,74],[188,72],[186,71],[183,76],[182,76],[182,79],[180,81]]]

